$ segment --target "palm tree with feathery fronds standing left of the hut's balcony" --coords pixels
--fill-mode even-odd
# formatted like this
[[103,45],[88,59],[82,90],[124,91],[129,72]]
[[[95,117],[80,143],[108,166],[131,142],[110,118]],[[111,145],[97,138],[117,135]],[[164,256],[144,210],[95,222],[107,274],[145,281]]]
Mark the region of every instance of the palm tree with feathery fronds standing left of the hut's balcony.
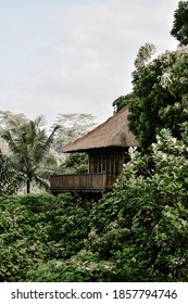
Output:
[[49,136],[42,126],[42,116],[38,116],[35,121],[22,119],[20,122],[10,117],[9,129],[2,134],[2,138],[5,139],[12,152],[12,164],[22,175],[22,180],[26,181],[27,193],[30,192],[32,181],[48,188],[49,168],[43,164],[47,163],[59,126],[53,127]]

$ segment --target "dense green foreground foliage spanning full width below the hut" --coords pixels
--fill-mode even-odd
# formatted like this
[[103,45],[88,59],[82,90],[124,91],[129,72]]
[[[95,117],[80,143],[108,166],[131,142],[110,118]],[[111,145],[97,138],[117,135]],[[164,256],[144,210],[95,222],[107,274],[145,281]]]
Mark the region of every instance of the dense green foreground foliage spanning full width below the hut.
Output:
[[130,149],[111,192],[0,198],[1,281],[187,281],[188,123]]

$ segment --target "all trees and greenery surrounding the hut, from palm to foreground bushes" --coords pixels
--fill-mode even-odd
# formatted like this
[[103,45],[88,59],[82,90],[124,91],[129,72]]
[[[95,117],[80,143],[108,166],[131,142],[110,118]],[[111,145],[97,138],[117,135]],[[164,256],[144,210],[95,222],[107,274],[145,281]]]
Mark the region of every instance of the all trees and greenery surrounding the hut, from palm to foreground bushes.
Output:
[[152,59],[154,46],[141,47],[133,92],[113,103],[128,104],[139,148],[101,200],[53,197],[48,183],[85,172],[86,155],[65,159],[61,147],[93,126],[90,115],[60,115],[47,135],[41,117],[1,112],[0,281],[188,281],[187,13],[179,1],[177,50]]

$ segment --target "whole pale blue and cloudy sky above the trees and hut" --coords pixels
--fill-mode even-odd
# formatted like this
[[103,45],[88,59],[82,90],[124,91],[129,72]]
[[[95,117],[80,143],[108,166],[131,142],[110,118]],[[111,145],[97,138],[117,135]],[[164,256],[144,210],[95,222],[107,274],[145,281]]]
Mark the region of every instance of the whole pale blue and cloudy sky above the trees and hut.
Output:
[[174,50],[178,0],[0,0],[0,111],[86,113],[101,123],[131,91],[138,50]]

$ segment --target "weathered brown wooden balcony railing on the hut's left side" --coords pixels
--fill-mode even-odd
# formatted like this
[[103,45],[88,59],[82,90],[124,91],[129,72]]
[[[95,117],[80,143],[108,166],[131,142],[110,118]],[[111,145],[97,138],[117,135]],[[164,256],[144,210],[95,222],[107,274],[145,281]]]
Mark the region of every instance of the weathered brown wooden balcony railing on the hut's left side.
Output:
[[63,192],[104,192],[112,189],[116,174],[76,174],[52,175],[50,188],[52,193]]

